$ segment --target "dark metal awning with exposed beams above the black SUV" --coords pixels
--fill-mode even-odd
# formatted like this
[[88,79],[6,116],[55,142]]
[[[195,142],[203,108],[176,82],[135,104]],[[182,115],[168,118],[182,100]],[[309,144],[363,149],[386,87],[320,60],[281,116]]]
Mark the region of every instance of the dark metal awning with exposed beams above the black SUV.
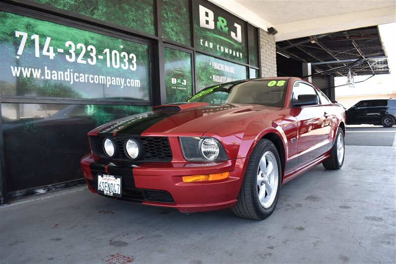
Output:
[[276,43],[278,54],[311,63],[312,77],[389,73],[377,26]]

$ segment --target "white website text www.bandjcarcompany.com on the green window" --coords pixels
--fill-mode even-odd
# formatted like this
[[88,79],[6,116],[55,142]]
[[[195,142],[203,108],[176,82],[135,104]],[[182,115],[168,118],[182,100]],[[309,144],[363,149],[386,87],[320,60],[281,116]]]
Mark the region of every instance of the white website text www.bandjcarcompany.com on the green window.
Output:
[[80,82],[80,83],[103,84],[106,85],[107,87],[109,87],[110,85],[116,85],[121,88],[141,87],[140,80],[79,73],[79,72],[74,72],[73,69],[67,69],[65,71],[55,71],[55,70],[49,70],[48,67],[45,66],[43,71],[42,69],[37,69],[37,68],[11,66],[11,72],[14,77],[67,81],[70,84]]

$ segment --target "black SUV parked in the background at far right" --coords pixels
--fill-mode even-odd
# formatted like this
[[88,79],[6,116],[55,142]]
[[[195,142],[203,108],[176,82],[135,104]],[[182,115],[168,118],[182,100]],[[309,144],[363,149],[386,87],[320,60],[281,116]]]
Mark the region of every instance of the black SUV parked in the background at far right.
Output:
[[391,127],[395,125],[396,99],[360,101],[347,111],[347,124],[373,124]]

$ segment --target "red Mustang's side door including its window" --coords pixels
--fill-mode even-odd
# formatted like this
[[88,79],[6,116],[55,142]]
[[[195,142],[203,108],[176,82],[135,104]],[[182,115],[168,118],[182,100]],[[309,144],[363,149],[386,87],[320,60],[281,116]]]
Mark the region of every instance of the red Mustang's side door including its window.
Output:
[[[292,101],[299,95],[318,95],[313,86],[302,81],[296,81],[292,89]],[[332,118],[320,103],[292,105],[292,109],[297,119],[298,167],[303,167],[327,151]]]

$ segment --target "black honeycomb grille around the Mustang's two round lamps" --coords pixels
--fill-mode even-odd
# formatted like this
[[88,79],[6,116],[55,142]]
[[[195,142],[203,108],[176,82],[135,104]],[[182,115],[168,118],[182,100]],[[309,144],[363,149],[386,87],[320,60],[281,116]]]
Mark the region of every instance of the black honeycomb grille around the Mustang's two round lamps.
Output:
[[111,159],[131,161],[131,158],[125,154],[124,143],[128,139],[135,139],[139,141],[143,148],[143,155],[141,158],[134,159],[136,161],[151,161],[151,162],[168,162],[172,160],[172,152],[170,150],[169,141],[166,137],[97,137],[91,136],[92,152],[97,157],[108,158],[104,154],[103,141],[105,138],[111,138],[116,145],[115,156]]

